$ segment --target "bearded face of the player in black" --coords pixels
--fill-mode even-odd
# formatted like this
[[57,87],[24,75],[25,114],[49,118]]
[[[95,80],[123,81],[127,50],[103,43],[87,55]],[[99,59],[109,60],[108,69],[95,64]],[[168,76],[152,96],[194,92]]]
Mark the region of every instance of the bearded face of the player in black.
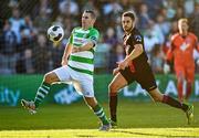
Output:
[[129,17],[122,17],[122,24],[125,32],[132,31],[135,22]]

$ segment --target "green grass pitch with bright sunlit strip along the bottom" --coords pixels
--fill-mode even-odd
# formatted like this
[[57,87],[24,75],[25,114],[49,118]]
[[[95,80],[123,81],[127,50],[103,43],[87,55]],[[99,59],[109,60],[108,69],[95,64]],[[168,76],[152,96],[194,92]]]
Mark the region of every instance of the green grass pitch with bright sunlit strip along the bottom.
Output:
[[[185,113],[170,106],[119,100],[118,128],[105,134],[97,131],[98,120],[83,102],[41,105],[35,115],[0,106],[0,137],[199,137],[199,103],[193,105],[195,121],[187,125]],[[103,107],[108,114],[108,105]]]

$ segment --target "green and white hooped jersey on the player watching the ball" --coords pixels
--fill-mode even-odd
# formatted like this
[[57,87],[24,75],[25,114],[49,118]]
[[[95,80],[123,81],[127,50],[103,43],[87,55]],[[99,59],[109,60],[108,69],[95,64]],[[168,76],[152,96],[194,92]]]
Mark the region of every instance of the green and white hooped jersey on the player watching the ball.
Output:
[[71,36],[70,44],[73,46],[83,46],[88,41],[92,41],[95,46],[90,51],[82,51],[77,53],[72,53],[69,59],[69,66],[84,74],[93,75],[94,72],[94,52],[96,49],[97,40],[100,38],[100,33],[96,29],[90,28],[87,30],[83,30],[82,28],[74,28]]

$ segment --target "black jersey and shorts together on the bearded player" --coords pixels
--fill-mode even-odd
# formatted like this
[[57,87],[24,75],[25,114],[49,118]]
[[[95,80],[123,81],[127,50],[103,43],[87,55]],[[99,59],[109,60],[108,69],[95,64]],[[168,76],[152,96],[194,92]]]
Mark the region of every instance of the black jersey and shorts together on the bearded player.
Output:
[[124,46],[126,54],[130,54],[136,44],[142,44],[144,52],[134,59],[132,63],[125,70],[119,70],[121,74],[127,81],[128,84],[136,81],[146,91],[153,91],[157,88],[156,79],[153,74],[151,67],[148,64],[148,57],[144,47],[144,39],[137,29],[134,29],[130,34],[124,35]]

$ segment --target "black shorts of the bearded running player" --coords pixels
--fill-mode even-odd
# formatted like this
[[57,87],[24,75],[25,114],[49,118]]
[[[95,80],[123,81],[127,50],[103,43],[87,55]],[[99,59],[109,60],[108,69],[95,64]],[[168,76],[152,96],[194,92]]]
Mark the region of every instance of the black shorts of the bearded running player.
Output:
[[132,72],[129,67],[121,70],[119,72],[125,77],[128,85],[136,81],[138,84],[140,84],[142,88],[146,89],[147,92],[157,88],[155,76],[147,62],[135,72]]

